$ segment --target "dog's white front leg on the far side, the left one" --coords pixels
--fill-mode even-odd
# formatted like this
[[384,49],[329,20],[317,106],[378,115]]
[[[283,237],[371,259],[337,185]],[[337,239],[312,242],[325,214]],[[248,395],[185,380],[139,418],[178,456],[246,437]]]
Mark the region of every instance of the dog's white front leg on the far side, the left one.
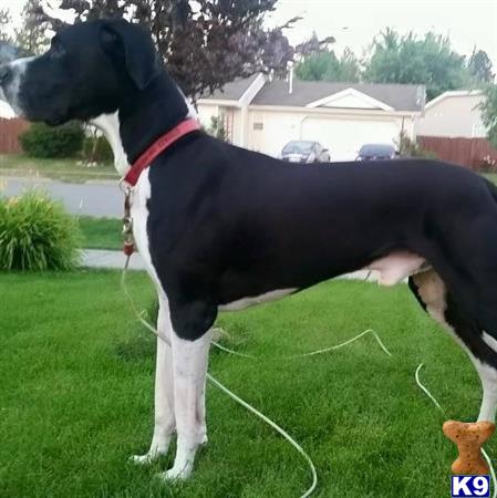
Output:
[[[159,311],[157,320],[158,333],[169,344],[173,326],[169,317],[169,307],[166,299],[159,297]],[[146,455],[135,455],[133,461],[149,464],[169,448],[170,439],[176,428],[174,414],[174,377],[173,354],[170,345],[157,338],[157,357],[155,369],[155,426],[151,448]]]

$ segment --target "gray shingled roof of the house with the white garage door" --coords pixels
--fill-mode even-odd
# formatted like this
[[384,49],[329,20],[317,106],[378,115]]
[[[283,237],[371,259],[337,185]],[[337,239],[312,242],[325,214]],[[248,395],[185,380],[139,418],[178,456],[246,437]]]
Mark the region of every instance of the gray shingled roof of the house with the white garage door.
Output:
[[[217,91],[207,98],[238,101],[257,74],[247,79],[238,79],[225,86],[225,92]],[[288,92],[288,82],[273,80],[266,82],[252,105],[281,105],[304,107],[311,102],[331,96],[346,89],[354,89],[377,101],[390,105],[395,111],[422,111],[425,104],[424,85],[403,85],[386,83],[342,83],[328,81],[293,81],[293,92]]]

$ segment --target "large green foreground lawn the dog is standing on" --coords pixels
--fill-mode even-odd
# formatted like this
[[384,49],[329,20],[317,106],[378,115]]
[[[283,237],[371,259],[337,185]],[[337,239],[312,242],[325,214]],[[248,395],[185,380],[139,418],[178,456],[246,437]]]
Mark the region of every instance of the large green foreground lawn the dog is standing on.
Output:
[[[130,276],[139,307],[153,288]],[[153,428],[154,339],[134,321],[116,272],[0,277],[0,496],[299,497],[304,461],[259,419],[209,386],[209,444],[195,477],[164,485],[134,466]],[[213,351],[210,372],[281,424],[319,474],[317,497],[448,497],[455,447],[445,417],[418,390],[414,371],[447,409],[473,419],[478,378],[420,310],[406,286],[327,282],[273,304],[218,320],[227,345],[260,356]],[[333,345],[373,328],[373,338],[336,352],[279,356]],[[488,445],[496,455],[497,439]]]

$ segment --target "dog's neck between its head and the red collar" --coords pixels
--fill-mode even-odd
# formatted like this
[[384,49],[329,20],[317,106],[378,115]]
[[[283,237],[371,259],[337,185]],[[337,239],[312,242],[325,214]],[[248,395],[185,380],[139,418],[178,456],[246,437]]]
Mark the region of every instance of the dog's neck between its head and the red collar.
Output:
[[168,76],[161,77],[145,92],[124,103],[113,114],[102,114],[91,123],[107,138],[114,166],[121,176],[159,136],[197,113]]

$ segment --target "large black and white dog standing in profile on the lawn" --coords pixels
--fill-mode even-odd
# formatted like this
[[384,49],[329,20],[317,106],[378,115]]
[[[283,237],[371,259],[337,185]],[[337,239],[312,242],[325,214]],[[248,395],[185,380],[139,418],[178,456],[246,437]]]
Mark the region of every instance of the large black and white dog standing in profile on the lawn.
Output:
[[[122,20],[75,24],[35,59],[0,68],[3,93],[32,121],[96,122],[125,175],[158,137],[190,118],[151,35]],[[497,189],[429,160],[300,166],[219,142],[179,137],[132,193],[134,237],[157,288],[155,430],[137,461],[177,453],[185,478],[206,440],[209,329],[219,310],[281,298],[373,268],[410,278],[425,310],[467,351],[497,405]]]

